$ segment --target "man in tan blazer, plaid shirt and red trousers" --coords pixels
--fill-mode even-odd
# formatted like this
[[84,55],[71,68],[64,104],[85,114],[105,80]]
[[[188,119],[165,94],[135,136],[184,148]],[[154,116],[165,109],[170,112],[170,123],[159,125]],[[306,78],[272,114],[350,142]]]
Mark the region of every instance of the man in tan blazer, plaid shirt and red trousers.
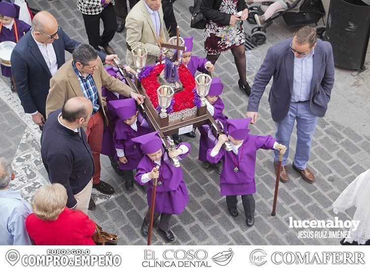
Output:
[[[86,97],[93,103],[93,113],[86,128],[87,143],[93,151],[94,175],[93,187],[101,193],[112,195],[114,189],[101,181],[100,152],[104,124],[108,120],[101,100],[101,87],[125,97],[134,98],[139,104],[143,96],[135,93],[129,86],[110,76],[103,68],[95,49],[88,44],[78,45],[72,54],[72,60],[66,62],[50,79],[50,90],[46,100],[46,116],[62,108],[73,97]],[[78,176],[78,174],[77,174]],[[90,207],[95,207],[90,201]]]

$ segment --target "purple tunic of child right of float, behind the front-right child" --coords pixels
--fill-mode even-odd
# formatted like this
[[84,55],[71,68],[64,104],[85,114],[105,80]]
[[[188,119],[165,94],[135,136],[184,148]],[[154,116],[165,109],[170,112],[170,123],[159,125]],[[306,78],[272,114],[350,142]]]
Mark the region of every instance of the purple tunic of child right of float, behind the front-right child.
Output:
[[[225,108],[225,105],[220,97],[218,97],[218,99],[213,103],[213,107],[214,107],[213,118],[214,120],[217,119],[220,120],[220,122],[224,125],[225,128],[224,132],[226,133],[227,131],[226,119],[228,119],[228,117],[222,113]],[[213,136],[213,134],[211,136],[208,136],[207,131],[208,128],[209,128],[208,125],[203,125],[202,127],[198,128],[199,132],[201,133],[201,138],[199,140],[199,157],[198,157],[200,161],[207,161],[208,149],[209,148],[212,149],[217,143],[216,137]]]

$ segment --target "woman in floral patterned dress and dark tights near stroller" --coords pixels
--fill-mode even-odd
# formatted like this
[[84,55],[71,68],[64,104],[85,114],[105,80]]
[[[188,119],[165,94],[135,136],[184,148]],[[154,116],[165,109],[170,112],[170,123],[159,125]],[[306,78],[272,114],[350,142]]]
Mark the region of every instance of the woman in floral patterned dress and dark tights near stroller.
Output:
[[[241,16],[236,15],[239,11],[242,11]],[[207,20],[204,29],[206,59],[214,65],[221,53],[230,49],[239,74],[239,88],[249,96],[243,30],[243,21],[248,17],[245,0],[202,0],[201,13]],[[227,31],[229,34],[225,35]]]

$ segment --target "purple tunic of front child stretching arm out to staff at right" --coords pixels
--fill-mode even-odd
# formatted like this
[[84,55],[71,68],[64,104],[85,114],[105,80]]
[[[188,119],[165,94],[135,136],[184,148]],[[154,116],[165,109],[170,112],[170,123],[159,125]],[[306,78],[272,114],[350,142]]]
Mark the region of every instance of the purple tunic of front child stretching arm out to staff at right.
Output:
[[[221,196],[249,195],[256,192],[254,173],[256,168],[256,152],[258,149],[273,150],[276,139],[272,136],[258,136],[247,134],[237,155],[233,151],[227,152],[223,147],[220,152],[211,157],[212,148],[208,149],[207,160],[216,164],[223,160],[220,175]],[[239,163],[239,164],[238,164]],[[235,165],[236,164],[236,165]],[[239,171],[234,172],[238,167]]]

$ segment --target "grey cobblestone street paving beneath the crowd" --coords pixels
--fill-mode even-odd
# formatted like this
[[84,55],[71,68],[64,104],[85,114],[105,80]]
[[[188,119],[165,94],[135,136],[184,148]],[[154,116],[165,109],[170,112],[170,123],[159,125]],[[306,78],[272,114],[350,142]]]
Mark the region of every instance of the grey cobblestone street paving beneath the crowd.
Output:
[[[190,28],[188,7],[193,1],[178,0],[174,3],[177,23],[182,36],[194,35],[193,54],[205,56],[203,32]],[[51,12],[59,25],[71,37],[86,42],[87,36],[80,11],[74,0],[29,0],[30,6]],[[246,33],[253,25],[244,24]],[[267,42],[252,53],[260,53],[262,64],[267,49],[292,36],[294,29],[277,20],[267,30]],[[111,46],[121,59],[125,59],[126,30],[116,33]],[[66,52],[67,60],[71,55]],[[370,67],[370,51],[365,65]],[[247,62],[248,65],[248,62]],[[257,68],[258,69],[258,68]],[[353,209],[346,214],[333,213],[332,203],[344,188],[366,169],[370,168],[370,70],[353,76],[351,70],[336,68],[336,83],[326,116],[320,118],[312,142],[308,167],[316,176],[314,184],[303,181],[292,168],[295,152],[296,132],[293,132],[287,169],[290,181],[279,186],[276,217],[271,217],[275,173],[273,152],[260,150],[257,154],[255,224],[247,228],[243,207],[239,199],[239,216],[229,215],[226,200],[219,195],[219,176],[214,168],[203,168],[198,161],[199,132],[197,137],[183,140],[192,146],[191,153],[181,163],[184,181],[189,191],[189,203],[180,215],[173,216],[171,230],[179,245],[337,245],[337,238],[298,238],[301,229],[289,228],[289,217],[300,220],[348,220]],[[253,82],[255,72],[248,72]],[[222,99],[229,118],[245,117],[248,97],[238,86],[238,75],[230,51],[222,54],[216,63],[215,76],[224,82]],[[259,120],[251,126],[252,134],[274,135],[275,125],[271,119],[267,88],[259,108]],[[0,156],[12,160],[17,173],[13,189],[22,189],[23,197],[30,201],[34,191],[48,183],[47,173],[40,157],[40,131],[24,114],[16,93],[11,93],[8,80],[0,80]],[[146,194],[137,185],[132,192],[125,188],[123,177],[110,166],[108,157],[101,155],[101,178],[110,183],[116,193],[102,195],[93,190],[97,208],[89,216],[110,233],[119,235],[119,244],[144,245],[140,234],[143,216],[147,210]],[[157,223],[158,224],[158,223]],[[332,230],[336,231],[336,230]],[[342,230],[346,231],[346,230]],[[164,238],[154,227],[152,244],[163,244]]]

